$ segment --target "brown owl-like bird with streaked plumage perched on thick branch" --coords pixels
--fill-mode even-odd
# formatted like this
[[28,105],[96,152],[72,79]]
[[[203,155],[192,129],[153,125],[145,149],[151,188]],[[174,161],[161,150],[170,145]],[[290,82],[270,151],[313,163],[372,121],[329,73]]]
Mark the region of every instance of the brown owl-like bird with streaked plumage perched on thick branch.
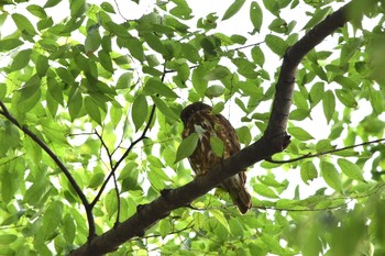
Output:
[[[213,114],[212,108],[202,102],[187,105],[180,113],[184,123],[183,138],[191,133],[198,134],[198,145],[188,157],[191,168],[196,175],[205,175],[211,167],[218,165],[222,159],[240,152],[240,143],[234,127],[221,114]],[[217,136],[223,142],[221,156],[211,148],[210,138]],[[246,213],[251,208],[251,197],[244,185],[246,174],[244,170],[230,177],[220,183],[220,187],[230,193],[233,203],[241,213]]]

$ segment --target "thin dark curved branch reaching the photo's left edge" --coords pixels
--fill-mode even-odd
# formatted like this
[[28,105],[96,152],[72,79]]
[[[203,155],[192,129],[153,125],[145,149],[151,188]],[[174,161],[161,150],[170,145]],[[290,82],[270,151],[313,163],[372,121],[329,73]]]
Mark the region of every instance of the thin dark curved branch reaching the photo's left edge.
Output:
[[0,107],[2,109],[1,114],[8,119],[11,123],[13,123],[15,126],[18,126],[21,131],[23,131],[29,137],[31,137],[38,146],[43,148],[45,153],[48,154],[48,156],[55,162],[55,164],[58,166],[58,168],[63,171],[63,174],[68,179],[69,183],[73,186],[74,190],[76,191],[77,196],[79,197],[82,205],[86,209],[87,213],[87,221],[89,226],[89,237],[92,237],[95,234],[95,221],[94,221],[94,214],[92,209],[90,208],[90,204],[82,192],[81,188],[78,186],[74,177],[70,175],[67,167],[63,164],[63,162],[57,157],[57,155],[40,138],[34,134],[30,129],[28,129],[25,125],[21,125],[19,121],[8,111],[6,104],[0,101]]

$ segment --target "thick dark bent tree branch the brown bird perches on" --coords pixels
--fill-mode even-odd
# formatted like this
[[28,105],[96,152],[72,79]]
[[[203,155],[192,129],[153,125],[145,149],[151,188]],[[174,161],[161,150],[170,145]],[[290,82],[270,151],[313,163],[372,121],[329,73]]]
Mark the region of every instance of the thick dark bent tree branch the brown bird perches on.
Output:
[[138,208],[136,213],[130,219],[101,236],[95,237],[95,240],[74,251],[72,255],[103,255],[114,251],[128,240],[142,236],[146,229],[167,216],[170,211],[188,205],[196,198],[216,188],[222,180],[262,159],[270,158],[275,153],[282,152],[288,144],[285,131],[292,105],[297,66],[310,49],[348,22],[349,9],[360,1],[362,0],[354,0],[329,15],[287,51],[276,85],[272,115],[266,132],[260,141],[223,160],[221,165],[210,169],[207,175],[198,176],[180,188],[163,191],[156,200]]

